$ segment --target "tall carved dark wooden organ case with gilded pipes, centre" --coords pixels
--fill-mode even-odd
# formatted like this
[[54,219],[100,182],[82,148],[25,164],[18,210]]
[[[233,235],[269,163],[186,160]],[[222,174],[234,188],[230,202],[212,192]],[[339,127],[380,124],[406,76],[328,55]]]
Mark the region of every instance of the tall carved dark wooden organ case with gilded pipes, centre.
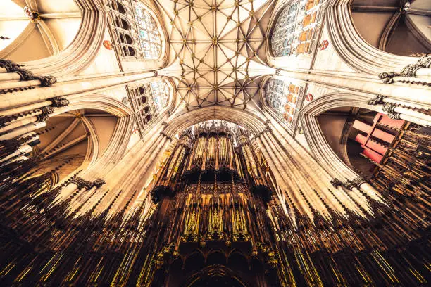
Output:
[[180,135],[151,193],[152,286],[280,285],[261,174],[240,127],[206,122]]

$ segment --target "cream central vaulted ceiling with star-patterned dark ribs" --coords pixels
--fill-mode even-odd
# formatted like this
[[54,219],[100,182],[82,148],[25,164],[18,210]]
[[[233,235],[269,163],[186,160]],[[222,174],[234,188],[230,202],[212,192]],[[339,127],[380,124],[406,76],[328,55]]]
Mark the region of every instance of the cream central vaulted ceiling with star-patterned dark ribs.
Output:
[[[275,1],[156,0],[168,30],[170,65],[185,108],[254,105],[266,65]],[[254,105],[256,106],[256,105]]]

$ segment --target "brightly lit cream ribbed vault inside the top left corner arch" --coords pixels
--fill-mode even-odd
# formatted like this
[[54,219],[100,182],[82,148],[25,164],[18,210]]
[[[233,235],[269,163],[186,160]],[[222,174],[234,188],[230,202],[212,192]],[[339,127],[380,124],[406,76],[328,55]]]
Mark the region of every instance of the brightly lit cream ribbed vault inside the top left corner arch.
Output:
[[81,20],[75,0],[0,0],[0,58],[26,62],[56,55],[73,41]]

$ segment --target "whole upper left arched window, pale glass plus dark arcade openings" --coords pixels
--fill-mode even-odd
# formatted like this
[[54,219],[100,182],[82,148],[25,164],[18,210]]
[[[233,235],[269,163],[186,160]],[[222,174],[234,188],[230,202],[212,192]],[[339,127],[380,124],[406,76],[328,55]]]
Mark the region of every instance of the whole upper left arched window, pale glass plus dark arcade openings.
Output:
[[158,59],[162,49],[161,35],[149,11],[130,0],[111,0],[108,5],[121,56]]

